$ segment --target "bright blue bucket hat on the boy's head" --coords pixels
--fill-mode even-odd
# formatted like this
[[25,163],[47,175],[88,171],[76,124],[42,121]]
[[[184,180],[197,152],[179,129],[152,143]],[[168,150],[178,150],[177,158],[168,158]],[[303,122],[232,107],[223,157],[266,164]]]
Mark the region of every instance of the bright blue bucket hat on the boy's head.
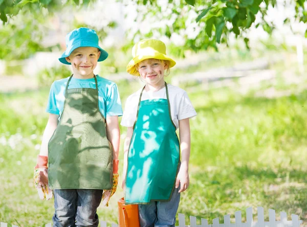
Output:
[[63,64],[71,64],[65,57],[79,47],[95,47],[100,50],[100,57],[98,61],[103,61],[107,58],[108,53],[101,49],[98,45],[98,36],[93,29],[78,28],[66,35],[66,51],[59,58],[59,61]]

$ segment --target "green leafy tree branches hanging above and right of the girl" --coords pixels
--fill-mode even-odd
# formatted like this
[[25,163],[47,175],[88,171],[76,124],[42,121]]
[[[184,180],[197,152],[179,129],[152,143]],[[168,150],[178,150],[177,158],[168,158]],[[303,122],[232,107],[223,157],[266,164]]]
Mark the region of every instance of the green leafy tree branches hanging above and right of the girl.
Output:
[[[123,0],[122,2],[131,1]],[[255,23],[256,15],[259,17],[257,20],[259,22],[255,24],[255,27],[260,26],[269,34],[275,28],[274,24],[267,19],[267,15],[270,6],[276,7],[276,0],[168,0],[166,7],[159,0],[134,0],[133,2],[138,5],[136,20],[140,17],[141,20],[156,17],[160,21],[172,21],[171,24],[166,23],[166,26],[154,28],[146,34],[142,34],[140,29],[135,36],[149,37],[155,34],[155,30],[169,38],[179,34],[185,40],[183,48],[193,51],[208,47],[217,49],[217,43],[228,44],[231,34],[243,38],[249,48],[247,32]],[[294,6],[296,12],[295,18],[286,18],[283,21],[284,24],[293,20],[307,22],[304,2],[304,0],[283,2],[284,6],[287,4]],[[191,26],[194,22],[196,25]]]

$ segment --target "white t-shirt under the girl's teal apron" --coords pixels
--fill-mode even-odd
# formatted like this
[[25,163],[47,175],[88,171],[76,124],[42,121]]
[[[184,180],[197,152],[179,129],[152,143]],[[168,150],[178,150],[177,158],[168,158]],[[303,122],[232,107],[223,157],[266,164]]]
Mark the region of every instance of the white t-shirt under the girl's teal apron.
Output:
[[[168,88],[168,97],[170,103],[170,112],[171,119],[176,125],[176,128],[179,128],[179,120],[186,118],[192,118],[197,115],[195,109],[192,106],[192,103],[185,92],[184,89],[180,87],[167,84]],[[125,127],[133,127],[138,111],[138,104],[140,99],[141,90],[138,90],[136,93],[130,95],[127,98],[123,117],[121,120],[121,125]],[[166,97],[166,88],[158,90],[158,92],[145,92],[142,94],[142,101],[147,99],[167,99]]]

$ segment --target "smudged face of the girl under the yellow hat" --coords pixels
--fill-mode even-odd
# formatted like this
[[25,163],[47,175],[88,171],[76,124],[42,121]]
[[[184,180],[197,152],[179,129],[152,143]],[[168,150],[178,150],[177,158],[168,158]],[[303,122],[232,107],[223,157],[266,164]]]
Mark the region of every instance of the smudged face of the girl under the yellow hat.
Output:
[[164,70],[167,64],[158,59],[145,59],[138,65],[138,71],[143,80],[151,86],[161,86],[164,84]]

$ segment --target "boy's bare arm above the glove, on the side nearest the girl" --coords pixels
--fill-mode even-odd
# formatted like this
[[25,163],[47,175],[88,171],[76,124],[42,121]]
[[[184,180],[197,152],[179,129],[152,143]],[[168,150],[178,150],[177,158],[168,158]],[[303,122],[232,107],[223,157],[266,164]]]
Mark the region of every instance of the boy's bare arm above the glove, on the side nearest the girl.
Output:
[[118,116],[106,117],[106,137],[113,146],[113,160],[118,160],[120,143]]

